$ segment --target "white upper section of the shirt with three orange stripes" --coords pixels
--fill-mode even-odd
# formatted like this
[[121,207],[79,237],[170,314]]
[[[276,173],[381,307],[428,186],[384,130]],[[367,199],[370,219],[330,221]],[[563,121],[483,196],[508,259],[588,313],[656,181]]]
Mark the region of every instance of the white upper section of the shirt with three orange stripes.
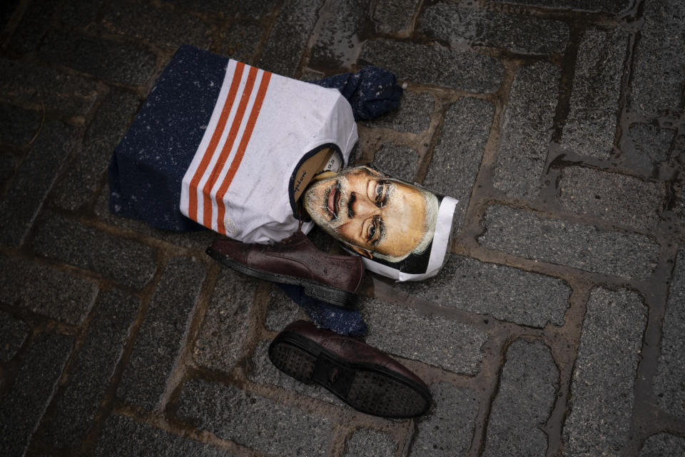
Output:
[[183,176],[181,212],[238,241],[280,241],[299,225],[293,215],[295,170],[308,154],[330,147],[338,154],[325,169],[340,171],[356,141],[352,108],[337,89],[230,60]]

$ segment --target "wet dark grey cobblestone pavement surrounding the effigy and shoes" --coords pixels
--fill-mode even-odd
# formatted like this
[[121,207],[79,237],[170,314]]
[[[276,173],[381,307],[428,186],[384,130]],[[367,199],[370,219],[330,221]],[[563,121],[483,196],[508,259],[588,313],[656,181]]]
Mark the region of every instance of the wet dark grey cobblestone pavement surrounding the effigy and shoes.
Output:
[[[0,28],[1,455],[685,455],[685,2],[6,0]],[[460,199],[456,236],[361,309],[427,416],[295,383],[265,355],[293,302],[215,233],[108,213],[183,43],[406,84],[355,161]]]

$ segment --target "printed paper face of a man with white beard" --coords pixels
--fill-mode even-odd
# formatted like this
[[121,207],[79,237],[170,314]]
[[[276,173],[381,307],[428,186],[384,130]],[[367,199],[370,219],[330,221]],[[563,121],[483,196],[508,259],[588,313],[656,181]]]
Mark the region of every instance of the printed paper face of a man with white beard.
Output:
[[358,166],[310,186],[305,209],[315,224],[353,250],[399,259],[425,244],[427,231],[432,236],[427,216],[437,204],[431,199],[435,196],[427,191]]

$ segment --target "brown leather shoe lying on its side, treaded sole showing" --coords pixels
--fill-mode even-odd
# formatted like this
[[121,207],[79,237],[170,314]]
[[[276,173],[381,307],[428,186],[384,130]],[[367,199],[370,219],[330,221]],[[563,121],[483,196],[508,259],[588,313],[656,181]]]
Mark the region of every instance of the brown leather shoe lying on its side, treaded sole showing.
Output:
[[428,387],[387,354],[307,321],[286,326],[269,346],[271,362],[304,383],[317,383],[362,413],[420,416],[430,408]]

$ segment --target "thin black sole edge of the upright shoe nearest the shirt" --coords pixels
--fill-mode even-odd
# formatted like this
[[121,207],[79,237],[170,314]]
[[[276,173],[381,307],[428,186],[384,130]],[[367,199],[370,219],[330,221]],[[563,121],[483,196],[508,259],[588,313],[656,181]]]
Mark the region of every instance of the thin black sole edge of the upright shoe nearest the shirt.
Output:
[[253,278],[264,279],[265,281],[272,281],[275,283],[285,283],[294,284],[295,286],[303,286],[305,289],[305,295],[311,298],[316,298],[317,300],[325,301],[332,305],[338,306],[340,308],[345,308],[349,310],[357,309],[357,302],[359,297],[350,291],[345,291],[342,288],[337,288],[334,286],[326,286],[325,284],[318,283],[316,281],[311,281],[310,279],[297,278],[295,276],[287,276],[284,274],[270,273],[268,271],[258,270],[256,268],[250,268],[249,266],[243,265],[234,261],[232,258],[224,256],[222,253],[217,251],[215,248],[209,247],[205,251],[211,258],[215,261],[223,263],[225,266],[233,268],[235,271],[252,276]]

